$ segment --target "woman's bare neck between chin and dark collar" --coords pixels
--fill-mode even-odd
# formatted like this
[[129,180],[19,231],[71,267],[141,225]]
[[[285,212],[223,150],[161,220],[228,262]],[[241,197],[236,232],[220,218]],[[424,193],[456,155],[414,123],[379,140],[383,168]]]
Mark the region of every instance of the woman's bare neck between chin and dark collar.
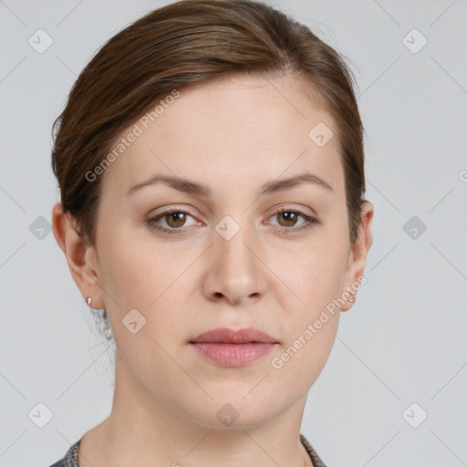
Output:
[[306,395],[264,422],[240,424],[239,417],[228,428],[214,421],[210,426],[150,395],[117,351],[112,410],[83,436],[79,467],[128,467],[135,461],[139,467],[313,466],[300,441]]

